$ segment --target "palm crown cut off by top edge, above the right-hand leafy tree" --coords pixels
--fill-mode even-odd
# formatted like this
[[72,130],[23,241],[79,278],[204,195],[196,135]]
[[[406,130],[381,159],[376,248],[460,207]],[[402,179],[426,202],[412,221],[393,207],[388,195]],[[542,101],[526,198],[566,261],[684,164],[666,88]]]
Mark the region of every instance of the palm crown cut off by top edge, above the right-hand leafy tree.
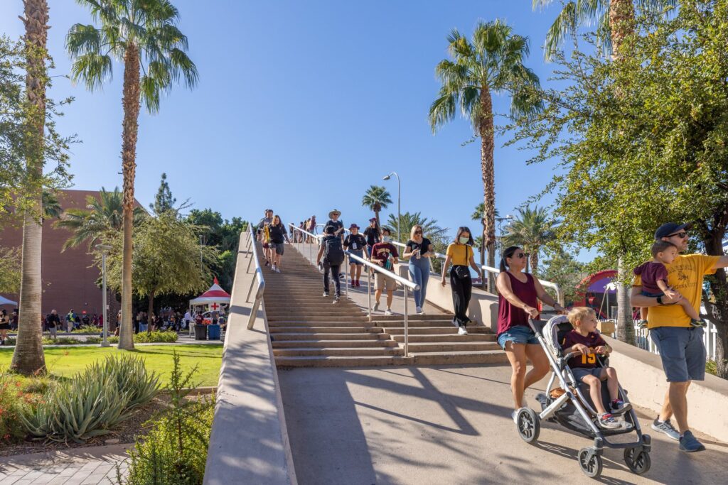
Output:
[[[534,0],[534,9],[547,7],[553,0]],[[635,10],[665,12],[677,0],[570,0],[563,3],[556,20],[546,34],[544,55],[547,60],[573,35],[580,25],[596,25],[596,33],[605,55],[616,56],[622,42],[634,30]]]

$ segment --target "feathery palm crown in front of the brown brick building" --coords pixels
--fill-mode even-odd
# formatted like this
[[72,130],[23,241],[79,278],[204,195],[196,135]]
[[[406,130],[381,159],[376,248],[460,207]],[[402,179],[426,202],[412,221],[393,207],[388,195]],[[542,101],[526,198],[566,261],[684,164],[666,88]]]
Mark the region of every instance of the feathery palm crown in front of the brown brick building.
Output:
[[[110,241],[119,235],[124,227],[122,206],[122,193],[118,187],[113,192],[101,188],[99,198],[94,196],[86,197],[85,209],[67,209],[55,222],[55,228],[63,228],[73,234],[63,244],[63,249],[80,246],[88,243],[89,250],[94,244],[102,241]],[[134,209],[134,225],[146,217],[141,207]]]

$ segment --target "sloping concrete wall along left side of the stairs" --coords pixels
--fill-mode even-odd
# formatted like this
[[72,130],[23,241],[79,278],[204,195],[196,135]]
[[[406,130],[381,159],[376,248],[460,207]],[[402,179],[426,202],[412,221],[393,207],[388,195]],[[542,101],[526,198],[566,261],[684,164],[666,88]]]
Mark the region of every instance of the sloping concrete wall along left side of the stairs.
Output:
[[[240,237],[204,483],[295,485],[263,305],[255,327],[247,328],[253,303],[245,298],[255,277],[255,273],[246,272],[250,261],[244,249],[248,237],[248,233]],[[255,268],[255,262],[251,268]]]

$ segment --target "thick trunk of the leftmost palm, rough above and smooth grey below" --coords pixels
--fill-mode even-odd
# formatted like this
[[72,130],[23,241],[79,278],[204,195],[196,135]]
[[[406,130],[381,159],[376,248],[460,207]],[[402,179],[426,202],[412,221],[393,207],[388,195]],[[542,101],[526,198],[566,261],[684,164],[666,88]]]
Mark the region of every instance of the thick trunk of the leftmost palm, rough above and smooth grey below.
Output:
[[33,127],[26,156],[32,209],[23,215],[23,274],[20,279],[20,305],[17,343],[10,368],[21,374],[45,372],[41,321],[41,247],[43,226],[43,145],[46,111],[46,43],[48,4],[46,0],[25,0],[25,94],[28,96],[28,124]]

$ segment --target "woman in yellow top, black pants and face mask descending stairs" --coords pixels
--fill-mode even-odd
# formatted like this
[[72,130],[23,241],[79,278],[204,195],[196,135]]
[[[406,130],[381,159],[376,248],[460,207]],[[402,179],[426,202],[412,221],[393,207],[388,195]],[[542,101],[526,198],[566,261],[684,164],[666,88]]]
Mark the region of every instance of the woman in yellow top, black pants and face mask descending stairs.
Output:
[[[443,278],[440,284],[445,286],[445,275],[450,268],[450,287],[453,293],[453,306],[455,316],[453,324],[458,327],[459,335],[467,335],[465,326],[470,318],[467,318],[467,307],[470,305],[472,295],[472,278],[470,268],[482,278],[483,273],[475,264],[474,252],[472,250],[472,236],[470,229],[461,226],[457,230],[455,241],[451,242],[446,252],[445,263],[443,264]],[[470,267],[470,268],[469,268]]]

